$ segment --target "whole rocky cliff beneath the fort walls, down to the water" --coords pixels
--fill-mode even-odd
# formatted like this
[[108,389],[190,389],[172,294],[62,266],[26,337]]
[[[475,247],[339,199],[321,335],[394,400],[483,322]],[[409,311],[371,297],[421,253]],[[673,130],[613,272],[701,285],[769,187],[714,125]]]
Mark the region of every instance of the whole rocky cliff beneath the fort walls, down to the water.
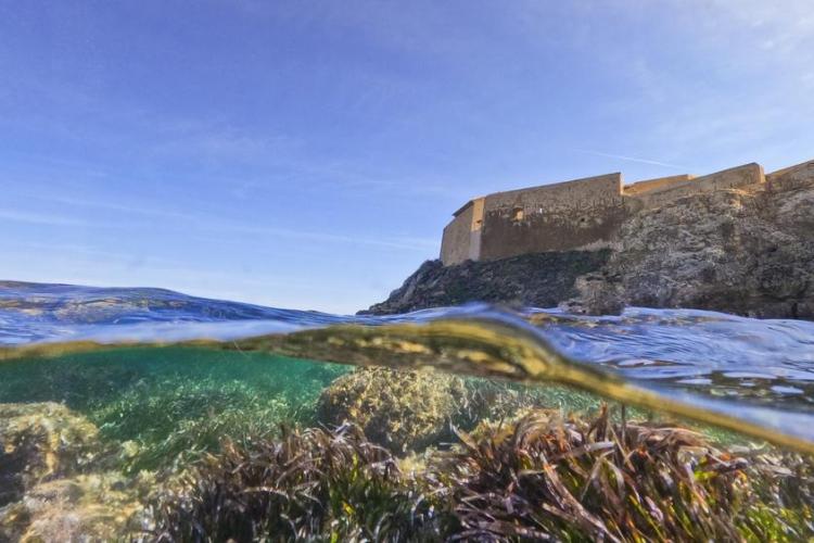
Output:
[[628,218],[613,249],[424,263],[371,313],[468,301],[612,313],[623,305],[814,318],[814,162],[765,185],[688,195]]

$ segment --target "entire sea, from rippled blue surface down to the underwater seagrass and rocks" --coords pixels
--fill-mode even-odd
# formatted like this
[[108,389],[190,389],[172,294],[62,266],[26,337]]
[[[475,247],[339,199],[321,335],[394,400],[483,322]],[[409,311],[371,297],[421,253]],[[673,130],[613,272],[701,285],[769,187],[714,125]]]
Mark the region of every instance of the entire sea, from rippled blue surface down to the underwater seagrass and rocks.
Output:
[[0,541],[800,541],[814,323],[0,289]]

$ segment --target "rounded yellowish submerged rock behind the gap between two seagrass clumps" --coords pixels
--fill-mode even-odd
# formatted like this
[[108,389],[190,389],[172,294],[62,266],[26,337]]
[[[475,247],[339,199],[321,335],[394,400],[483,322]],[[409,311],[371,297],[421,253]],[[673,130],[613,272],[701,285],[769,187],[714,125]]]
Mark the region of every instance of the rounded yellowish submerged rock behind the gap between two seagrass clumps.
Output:
[[359,368],[322,391],[317,411],[321,422],[353,422],[373,443],[404,454],[450,435],[450,420],[466,394],[458,377]]

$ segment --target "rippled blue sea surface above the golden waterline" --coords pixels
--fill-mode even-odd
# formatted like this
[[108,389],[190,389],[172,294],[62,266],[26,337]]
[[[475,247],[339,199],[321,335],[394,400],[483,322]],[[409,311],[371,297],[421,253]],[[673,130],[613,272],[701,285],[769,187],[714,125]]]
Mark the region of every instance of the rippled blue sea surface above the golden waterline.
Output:
[[532,325],[539,339],[570,358],[671,387],[802,407],[810,403],[810,383],[814,382],[814,323],[802,320],[635,307],[610,317],[568,315],[559,310],[509,314],[478,304],[351,317],[198,299],[161,289],[3,285],[0,345],[233,340],[330,325],[482,318],[525,329]]

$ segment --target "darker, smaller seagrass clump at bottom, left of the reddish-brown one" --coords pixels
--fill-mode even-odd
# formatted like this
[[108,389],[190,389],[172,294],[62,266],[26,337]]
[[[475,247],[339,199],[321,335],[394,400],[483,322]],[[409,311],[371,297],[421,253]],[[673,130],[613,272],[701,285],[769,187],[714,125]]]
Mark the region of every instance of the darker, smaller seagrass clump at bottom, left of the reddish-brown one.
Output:
[[208,455],[154,505],[158,542],[422,541],[434,509],[358,427],[282,429],[275,442]]

